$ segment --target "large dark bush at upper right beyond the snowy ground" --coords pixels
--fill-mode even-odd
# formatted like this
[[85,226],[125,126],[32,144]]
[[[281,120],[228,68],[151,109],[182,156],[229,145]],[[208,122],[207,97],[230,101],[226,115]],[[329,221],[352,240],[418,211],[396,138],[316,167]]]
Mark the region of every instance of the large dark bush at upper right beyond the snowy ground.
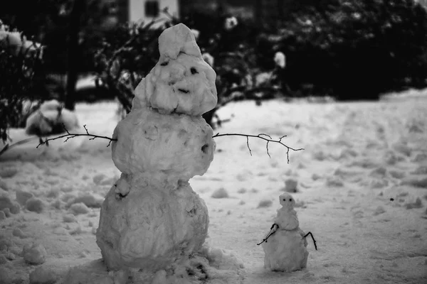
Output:
[[426,87],[427,13],[412,0],[294,1],[288,21],[268,36],[287,55],[280,75],[291,89],[311,85],[337,99]]

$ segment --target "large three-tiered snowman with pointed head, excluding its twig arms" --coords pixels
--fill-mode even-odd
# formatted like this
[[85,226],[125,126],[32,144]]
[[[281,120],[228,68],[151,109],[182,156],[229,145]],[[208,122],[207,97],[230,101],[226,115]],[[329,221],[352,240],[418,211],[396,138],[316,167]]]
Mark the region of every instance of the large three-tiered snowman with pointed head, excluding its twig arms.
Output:
[[214,158],[201,115],[216,106],[216,74],[183,24],[160,35],[159,51],[113,133],[122,175],[105,197],[96,234],[111,270],[164,269],[199,251],[208,231],[206,204],[188,181]]

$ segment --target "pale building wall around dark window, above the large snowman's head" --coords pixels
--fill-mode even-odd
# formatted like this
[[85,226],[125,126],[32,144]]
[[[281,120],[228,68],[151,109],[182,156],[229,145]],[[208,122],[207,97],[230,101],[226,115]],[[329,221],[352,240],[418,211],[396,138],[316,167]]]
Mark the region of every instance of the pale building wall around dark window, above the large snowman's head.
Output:
[[[129,21],[134,23],[140,23],[141,21],[149,22],[152,21],[152,17],[146,16],[145,13],[145,2],[147,0],[129,0]],[[153,0],[152,0],[153,1]],[[155,0],[159,2],[159,9],[162,11],[165,7],[169,8],[169,13],[174,16],[179,16],[179,0]],[[159,18],[167,18],[164,13],[159,13]]]

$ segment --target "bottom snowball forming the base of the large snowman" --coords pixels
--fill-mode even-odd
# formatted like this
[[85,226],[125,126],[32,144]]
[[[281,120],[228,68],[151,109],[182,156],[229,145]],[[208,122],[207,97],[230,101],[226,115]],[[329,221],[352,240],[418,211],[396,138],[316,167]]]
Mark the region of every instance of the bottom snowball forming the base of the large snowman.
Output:
[[127,196],[117,199],[112,187],[101,208],[96,239],[110,269],[157,271],[199,251],[208,231],[208,210],[188,183],[165,192],[162,185],[138,178],[128,182],[132,190]]

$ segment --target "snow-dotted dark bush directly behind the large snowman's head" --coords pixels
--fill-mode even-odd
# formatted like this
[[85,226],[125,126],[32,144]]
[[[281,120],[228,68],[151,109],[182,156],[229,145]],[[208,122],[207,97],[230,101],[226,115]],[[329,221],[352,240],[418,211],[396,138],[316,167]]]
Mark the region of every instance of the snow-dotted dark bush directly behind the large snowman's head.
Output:
[[[142,23],[116,28],[107,34],[103,47],[95,57],[101,80],[117,94],[127,112],[132,107],[135,87],[157,63],[159,35],[164,28],[176,23],[184,23],[193,29],[202,57],[216,71],[218,104],[215,109],[204,114],[211,126],[214,127],[216,110],[228,102],[236,99],[265,99],[276,92],[275,86],[265,82],[262,86],[256,84],[258,73],[265,70],[256,65],[258,31],[253,23],[245,23],[233,16],[218,13],[193,13],[191,18],[182,20],[172,15],[169,18],[169,21],[160,26],[158,23]],[[210,24],[206,25],[206,21]],[[273,56],[270,61],[273,62]],[[268,77],[271,81],[275,75],[272,70],[268,71],[272,73]],[[260,92],[260,87],[263,92]]]

